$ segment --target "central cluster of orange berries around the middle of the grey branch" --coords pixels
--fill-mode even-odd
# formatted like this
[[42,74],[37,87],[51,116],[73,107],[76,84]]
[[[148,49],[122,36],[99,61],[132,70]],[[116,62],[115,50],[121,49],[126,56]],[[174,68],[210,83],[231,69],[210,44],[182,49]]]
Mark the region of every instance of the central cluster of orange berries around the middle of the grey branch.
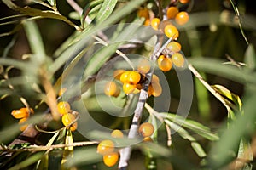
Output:
[[[143,82],[146,80],[145,74],[150,71],[150,62],[148,59],[141,59],[137,65],[137,71],[116,70],[113,71],[113,77],[116,81],[122,82],[125,94],[137,94],[143,88]],[[117,97],[120,89],[115,81],[105,84],[104,93],[108,96]],[[162,88],[160,86],[159,77],[153,75],[148,87],[148,95],[154,97],[160,96]]]

